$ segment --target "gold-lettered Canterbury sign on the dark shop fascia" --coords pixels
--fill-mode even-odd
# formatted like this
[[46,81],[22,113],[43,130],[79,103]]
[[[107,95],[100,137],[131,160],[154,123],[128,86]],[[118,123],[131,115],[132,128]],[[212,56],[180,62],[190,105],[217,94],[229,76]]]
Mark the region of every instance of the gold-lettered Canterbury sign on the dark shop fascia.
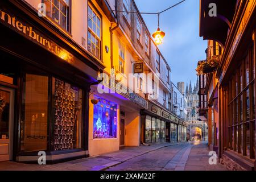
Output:
[[2,6],[0,6],[0,22],[68,63],[74,63],[75,57],[71,53]]

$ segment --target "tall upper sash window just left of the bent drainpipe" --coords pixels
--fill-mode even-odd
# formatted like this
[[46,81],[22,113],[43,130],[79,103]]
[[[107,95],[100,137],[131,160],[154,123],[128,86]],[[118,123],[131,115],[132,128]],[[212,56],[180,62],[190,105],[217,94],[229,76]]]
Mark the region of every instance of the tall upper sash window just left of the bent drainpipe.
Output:
[[88,6],[88,51],[101,59],[101,18]]

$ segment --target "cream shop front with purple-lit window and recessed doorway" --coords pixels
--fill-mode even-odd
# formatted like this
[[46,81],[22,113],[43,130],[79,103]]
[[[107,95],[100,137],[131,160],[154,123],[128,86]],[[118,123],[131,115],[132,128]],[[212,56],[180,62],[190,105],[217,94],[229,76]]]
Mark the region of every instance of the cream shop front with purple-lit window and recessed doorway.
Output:
[[[141,144],[141,109],[148,102],[138,94],[123,92],[117,82],[104,81],[91,86],[89,101],[89,155],[118,151]],[[99,88],[105,90],[99,92]],[[102,147],[104,146],[104,147]]]

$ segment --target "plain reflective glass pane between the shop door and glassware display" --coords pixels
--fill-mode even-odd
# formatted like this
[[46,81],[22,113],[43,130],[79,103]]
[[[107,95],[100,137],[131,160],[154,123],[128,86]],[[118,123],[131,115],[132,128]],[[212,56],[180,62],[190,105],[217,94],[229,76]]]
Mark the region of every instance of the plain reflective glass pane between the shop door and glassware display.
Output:
[[48,77],[26,75],[24,119],[21,121],[20,149],[24,152],[47,149]]

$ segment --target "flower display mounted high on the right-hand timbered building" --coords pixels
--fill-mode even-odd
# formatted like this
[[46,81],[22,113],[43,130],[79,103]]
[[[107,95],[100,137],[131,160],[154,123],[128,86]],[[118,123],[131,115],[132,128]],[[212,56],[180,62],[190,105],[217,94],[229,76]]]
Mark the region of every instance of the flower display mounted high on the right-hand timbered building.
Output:
[[212,73],[216,71],[220,64],[220,56],[211,56],[208,61],[201,61],[196,68],[197,75],[203,75],[205,73]]

